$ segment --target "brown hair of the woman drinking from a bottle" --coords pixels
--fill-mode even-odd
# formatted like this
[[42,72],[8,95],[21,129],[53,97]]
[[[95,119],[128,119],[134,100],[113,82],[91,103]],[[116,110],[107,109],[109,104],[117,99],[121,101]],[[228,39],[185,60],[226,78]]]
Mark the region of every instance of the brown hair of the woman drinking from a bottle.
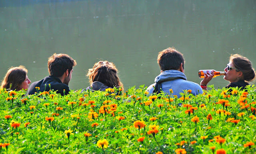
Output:
[[255,79],[255,70],[251,61],[239,54],[230,55],[229,61],[234,67],[243,73],[244,81],[250,82]]

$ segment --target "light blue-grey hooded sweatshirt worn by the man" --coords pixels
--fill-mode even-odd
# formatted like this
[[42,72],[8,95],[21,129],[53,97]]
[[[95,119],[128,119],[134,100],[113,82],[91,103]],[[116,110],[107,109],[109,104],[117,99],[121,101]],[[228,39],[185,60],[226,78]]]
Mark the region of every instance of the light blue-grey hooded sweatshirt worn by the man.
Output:
[[[182,97],[180,93],[183,93],[183,90],[192,90],[193,95],[202,94],[203,90],[197,83],[187,81],[186,75],[181,71],[177,70],[166,70],[163,71],[160,75],[155,78],[155,82],[161,83],[162,91],[170,95],[170,89],[172,89],[172,95],[177,95]],[[148,92],[153,93],[156,83],[148,87]],[[154,87],[153,87],[154,86]],[[198,92],[199,91],[199,92]]]

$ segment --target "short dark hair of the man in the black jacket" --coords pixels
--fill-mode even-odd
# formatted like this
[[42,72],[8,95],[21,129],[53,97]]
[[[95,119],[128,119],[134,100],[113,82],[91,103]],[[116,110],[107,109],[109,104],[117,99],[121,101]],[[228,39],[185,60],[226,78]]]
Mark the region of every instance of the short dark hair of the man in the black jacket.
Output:
[[76,66],[76,61],[69,55],[63,53],[54,53],[48,58],[48,71],[49,74],[54,77],[61,77],[67,69],[70,74],[73,66]]

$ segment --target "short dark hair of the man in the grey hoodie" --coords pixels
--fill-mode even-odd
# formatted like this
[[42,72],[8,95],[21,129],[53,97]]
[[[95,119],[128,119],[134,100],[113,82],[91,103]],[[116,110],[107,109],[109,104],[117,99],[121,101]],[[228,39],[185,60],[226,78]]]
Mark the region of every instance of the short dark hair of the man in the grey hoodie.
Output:
[[178,70],[181,63],[184,69],[185,60],[182,53],[177,51],[174,47],[168,47],[167,49],[164,49],[158,53],[157,63],[162,71],[172,69]]

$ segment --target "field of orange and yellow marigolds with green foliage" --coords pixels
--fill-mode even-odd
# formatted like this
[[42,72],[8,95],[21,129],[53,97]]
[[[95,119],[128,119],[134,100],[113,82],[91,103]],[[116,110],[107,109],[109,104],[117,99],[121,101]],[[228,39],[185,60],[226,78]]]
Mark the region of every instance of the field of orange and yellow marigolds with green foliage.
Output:
[[254,153],[256,88],[210,87],[180,98],[143,85],[64,97],[1,89],[0,153]]

